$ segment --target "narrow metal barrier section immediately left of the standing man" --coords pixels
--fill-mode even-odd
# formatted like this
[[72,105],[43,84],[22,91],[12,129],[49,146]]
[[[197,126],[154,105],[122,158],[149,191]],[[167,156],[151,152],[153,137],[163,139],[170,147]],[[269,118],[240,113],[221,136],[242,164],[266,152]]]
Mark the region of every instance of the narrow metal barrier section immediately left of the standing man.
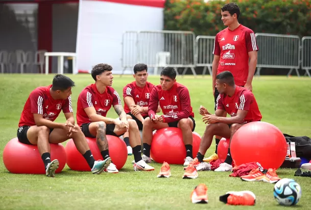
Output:
[[204,76],[208,69],[211,75],[211,66],[213,62],[213,48],[215,36],[197,36],[196,44],[196,66],[203,66],[202,75]]

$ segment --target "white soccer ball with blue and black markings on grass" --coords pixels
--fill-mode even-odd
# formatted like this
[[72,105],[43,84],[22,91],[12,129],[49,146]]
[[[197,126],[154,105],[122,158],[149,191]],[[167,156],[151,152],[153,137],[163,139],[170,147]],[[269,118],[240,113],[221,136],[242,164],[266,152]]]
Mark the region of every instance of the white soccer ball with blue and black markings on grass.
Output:
[[275,183],[273,194],[280,205],[295,205],[301,197],[301,187],[294,179],[283,178]]

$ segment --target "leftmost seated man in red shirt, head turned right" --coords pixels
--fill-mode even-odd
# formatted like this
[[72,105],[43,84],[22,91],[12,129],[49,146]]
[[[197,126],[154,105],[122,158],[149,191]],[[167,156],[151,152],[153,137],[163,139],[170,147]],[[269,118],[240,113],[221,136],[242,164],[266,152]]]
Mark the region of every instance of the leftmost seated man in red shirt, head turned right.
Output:
[[[38,145],[48,177],[55,176],[59,166],[58,160],[51,161],[50,144],[58,144],[72,138],[79,152],[84,156],[93,174],[101,173],[109,164],[110,159],[95,161],[88,147],[85,136],[75,124],[71,107],[71,87],[75,83],[69,77],[57,74],[50,86],[38,87],[33,90],[22,110],[18,123],[17,138],[24,144]],[[66,122],[54,120],[63,111]]]

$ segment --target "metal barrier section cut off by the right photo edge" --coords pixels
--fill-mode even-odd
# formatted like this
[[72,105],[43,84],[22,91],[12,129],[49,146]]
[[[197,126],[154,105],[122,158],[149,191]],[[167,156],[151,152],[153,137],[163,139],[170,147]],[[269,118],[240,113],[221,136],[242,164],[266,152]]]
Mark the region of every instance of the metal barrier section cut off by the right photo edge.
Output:
[[305,70],[304,75],[311,77],[311,37],[301,39],[301,69]]

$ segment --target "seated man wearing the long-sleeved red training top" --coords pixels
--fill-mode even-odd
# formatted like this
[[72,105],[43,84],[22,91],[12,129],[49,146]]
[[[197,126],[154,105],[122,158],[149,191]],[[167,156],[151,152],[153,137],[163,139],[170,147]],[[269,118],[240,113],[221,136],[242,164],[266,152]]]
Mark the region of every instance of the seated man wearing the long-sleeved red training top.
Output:
[[[172,67],[163,68],[160,74],[160,85],[155,86],[151,91],[148,107],[149,117],[143,121],[142,127],[142,160],[146,163],[151,162],[150,145],[153,130],[165,127],[181,129],[186,147],[184,166],[193,161],[192,132],[195,130],[196,123],[190,104],[189,91],[185,86],[176,82],[176,74],[176,70]],[[158,104],[160,104],[163,115],[156,115]]]

